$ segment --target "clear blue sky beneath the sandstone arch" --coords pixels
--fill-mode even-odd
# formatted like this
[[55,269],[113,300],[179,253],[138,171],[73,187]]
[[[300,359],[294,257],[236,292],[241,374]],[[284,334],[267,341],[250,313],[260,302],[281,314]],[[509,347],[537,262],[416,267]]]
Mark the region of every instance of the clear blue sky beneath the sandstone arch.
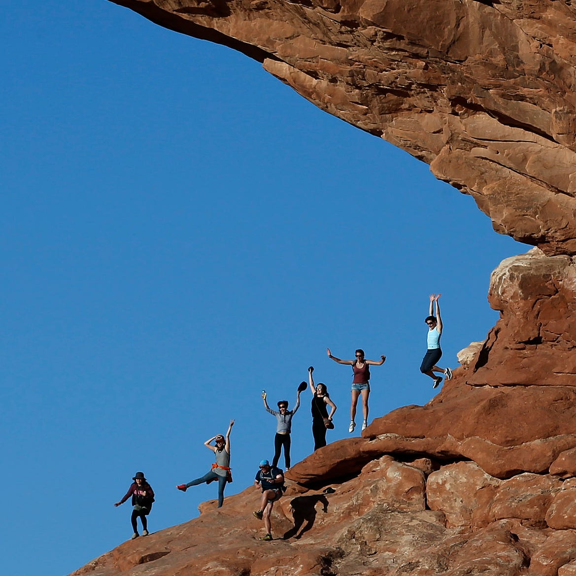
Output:
[[[232,434],[234,483],[272,456],[309,365],[348,437],[351,372],[388,357],[370,418],[433,397],[418,366],[441,292],[443,364],[498,314],[490,272],[528,247],[427,165],[321,112],[232,50],[102,0],[22,0],[0,24],[0,372],[6,574],[62,576],[216,488],[203,442]],[[293,461],[313,447],[310,395]],[[257,495],[255,494],[255,505]],[[34,543],[33,554],[31,544]]]

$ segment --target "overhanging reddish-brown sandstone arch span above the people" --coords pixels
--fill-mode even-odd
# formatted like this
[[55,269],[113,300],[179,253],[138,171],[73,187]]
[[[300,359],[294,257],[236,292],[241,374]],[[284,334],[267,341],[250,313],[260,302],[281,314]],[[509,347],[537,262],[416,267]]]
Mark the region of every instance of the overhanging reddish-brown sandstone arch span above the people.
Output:
[[502,234],[576,253],[570,0],[113,0],[224,44],[470,194]]

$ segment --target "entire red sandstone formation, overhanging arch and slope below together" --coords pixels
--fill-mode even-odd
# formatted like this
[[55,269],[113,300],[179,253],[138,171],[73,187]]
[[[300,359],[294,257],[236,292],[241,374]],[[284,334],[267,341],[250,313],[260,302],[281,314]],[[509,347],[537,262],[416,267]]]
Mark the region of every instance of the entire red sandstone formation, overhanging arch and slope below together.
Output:
[[493,272],[501,318],[437,397],[290,469],[274,542],[251,487],[74,576],[576,576],[570,1],[117,3],[259,60],[538,248]]

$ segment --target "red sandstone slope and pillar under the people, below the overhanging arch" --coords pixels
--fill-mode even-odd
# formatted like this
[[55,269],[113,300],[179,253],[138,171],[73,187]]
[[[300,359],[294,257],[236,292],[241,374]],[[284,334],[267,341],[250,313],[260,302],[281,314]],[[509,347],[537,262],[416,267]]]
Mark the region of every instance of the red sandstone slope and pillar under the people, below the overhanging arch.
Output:
[[73,576],[576,575],[576,380],[562,366],[575,341],[559,328],[575,277],[575,259],[537,248],[505,260],[486,342],[426,406],[291,468],[274,542],[258,540],[251,487]]

